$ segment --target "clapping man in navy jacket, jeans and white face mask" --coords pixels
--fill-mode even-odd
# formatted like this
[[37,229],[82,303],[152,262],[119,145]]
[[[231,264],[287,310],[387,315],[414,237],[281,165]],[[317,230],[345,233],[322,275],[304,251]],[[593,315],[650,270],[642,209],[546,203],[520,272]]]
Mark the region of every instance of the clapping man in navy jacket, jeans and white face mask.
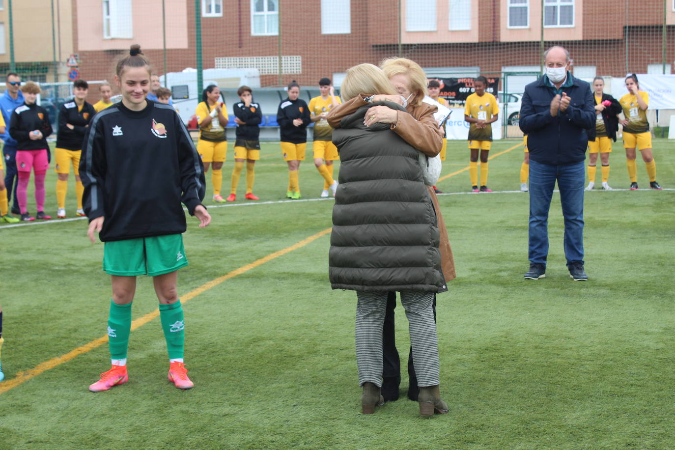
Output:
[[546,74],[525,86],[520,130],[530,152],[530,270],[525,279],[545,277],[548,214],[558,181],[565,223],[564,249],[570,277],[588,279],[584,271],[584,184],[587,130],[595,126],[591,86],[569,72],[563,47],[544,53]]

